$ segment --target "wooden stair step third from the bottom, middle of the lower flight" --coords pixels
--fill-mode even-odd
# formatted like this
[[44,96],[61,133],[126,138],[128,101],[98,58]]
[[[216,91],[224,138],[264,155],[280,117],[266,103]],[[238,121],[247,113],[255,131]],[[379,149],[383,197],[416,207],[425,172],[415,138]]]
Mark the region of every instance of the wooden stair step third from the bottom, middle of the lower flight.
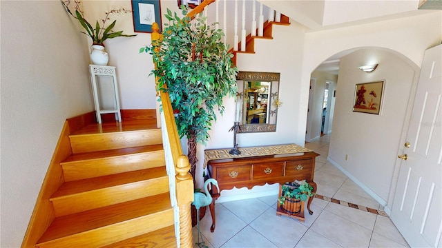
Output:
[[55,216],[64,216],[165,192],[169,192],[166,167],[154,167],[65,182],[50,201]]

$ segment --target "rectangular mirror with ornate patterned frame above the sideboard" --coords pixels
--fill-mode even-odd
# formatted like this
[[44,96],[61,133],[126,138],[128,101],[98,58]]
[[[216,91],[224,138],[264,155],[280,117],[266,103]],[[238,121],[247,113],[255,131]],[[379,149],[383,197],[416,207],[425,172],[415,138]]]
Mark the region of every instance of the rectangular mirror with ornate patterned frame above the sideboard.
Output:
[[237,102],[242,101],[238,132],[276,132],[279,78],[277,72],[238,72]]

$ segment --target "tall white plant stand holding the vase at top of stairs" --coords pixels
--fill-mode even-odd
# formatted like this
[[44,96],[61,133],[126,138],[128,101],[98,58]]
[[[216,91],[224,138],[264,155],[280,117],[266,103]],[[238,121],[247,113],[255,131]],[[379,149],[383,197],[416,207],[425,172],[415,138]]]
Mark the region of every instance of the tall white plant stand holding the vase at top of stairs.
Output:
[[121,122],[115,66],[89,65],[89,72],[98,123],[102,123],[102,114],[109,113],[115,113],[115,119]]

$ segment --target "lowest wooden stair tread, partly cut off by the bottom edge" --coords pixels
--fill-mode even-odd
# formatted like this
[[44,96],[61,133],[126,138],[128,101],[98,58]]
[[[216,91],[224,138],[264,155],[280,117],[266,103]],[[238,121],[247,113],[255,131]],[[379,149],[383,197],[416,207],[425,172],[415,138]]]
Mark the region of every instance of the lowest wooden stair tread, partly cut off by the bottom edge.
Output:
[[143,248],[177,247],[177,240],[175,237],[175,227],[171,225],[169,227],[164,227],[156,231],[151,231],[148,234],[143,234],[133,238],[128,238],[127,240],[122,240],[120,242],[116,242],[111,245],[106,245],[101,248],[132,248],[132,247],[143,247]]

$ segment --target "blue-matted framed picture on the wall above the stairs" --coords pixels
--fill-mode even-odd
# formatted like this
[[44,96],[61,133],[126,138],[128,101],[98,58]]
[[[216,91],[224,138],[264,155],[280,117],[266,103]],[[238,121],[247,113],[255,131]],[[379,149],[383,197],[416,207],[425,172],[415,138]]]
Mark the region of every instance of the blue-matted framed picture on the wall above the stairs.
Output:
[[133,31],[152,32],[156,22],[162,32],[160,0],[132,0]]

